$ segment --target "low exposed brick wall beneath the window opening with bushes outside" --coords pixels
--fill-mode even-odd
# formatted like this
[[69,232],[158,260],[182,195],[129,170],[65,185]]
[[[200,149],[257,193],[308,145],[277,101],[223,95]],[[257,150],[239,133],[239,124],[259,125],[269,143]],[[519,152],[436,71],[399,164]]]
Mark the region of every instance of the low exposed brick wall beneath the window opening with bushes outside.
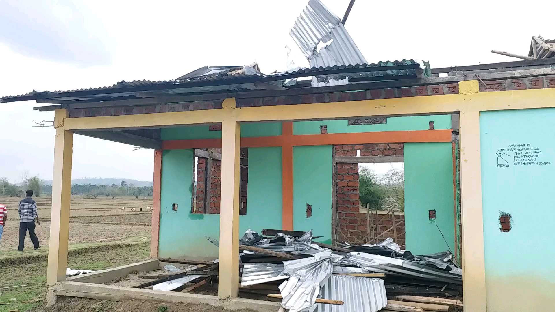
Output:
[[[370,219],[370,222],[368,219]],[[383,232],[385,234],[381,235],[379,238],[376,239],[377,242],[380,242],[388,237],[395,237],[395,233],[397,233],[397,240],[395,241],[400,246],[405,245],[405,215],[404,214],[396,214],[395,215],[395,223],[397,224],[397,228],[395,232],[393,231],[393,221],[391,220],[391,214],[378,214],[377,219],[378,225],[376,230],[372,228],[372,224],[374,224],[371,220],[374,218],[376,219],[376,214],[371,213],[368,215],[367,213],[360,213],[358,212],[337,212],[337,219],[339,220],[339,239],[341,241],[350,241],[351,243],[361,242],[367,243],[368,238],[372,239],[374,236],[380,235]],[[370,223],[370,236],[368,233],[368,224]]]

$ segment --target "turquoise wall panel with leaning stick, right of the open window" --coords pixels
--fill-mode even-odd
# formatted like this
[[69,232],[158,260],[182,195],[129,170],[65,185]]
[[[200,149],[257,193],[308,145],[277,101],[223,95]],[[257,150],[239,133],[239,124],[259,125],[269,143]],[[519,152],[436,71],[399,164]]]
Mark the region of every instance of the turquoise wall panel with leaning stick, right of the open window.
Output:
[[[450,142],[405,143],[405,241],[412,254],[455,252],[453,156]],[[428,210],[436,210],[435,223]],[[436,227],[437,225],[437,227]]]

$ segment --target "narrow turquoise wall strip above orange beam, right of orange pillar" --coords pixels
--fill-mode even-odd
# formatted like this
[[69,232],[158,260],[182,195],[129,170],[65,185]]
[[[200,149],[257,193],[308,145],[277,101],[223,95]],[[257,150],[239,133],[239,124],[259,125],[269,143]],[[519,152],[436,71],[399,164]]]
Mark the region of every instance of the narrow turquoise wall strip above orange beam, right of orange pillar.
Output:
[[327,133],[356,133],[375,131],[427,130],[433,121],[434,129],[451,129],[451,115],[390,117],[385,124],[348,125],[347,120],[294,122],[293,134],[319,134],[320,125],[327,125]]

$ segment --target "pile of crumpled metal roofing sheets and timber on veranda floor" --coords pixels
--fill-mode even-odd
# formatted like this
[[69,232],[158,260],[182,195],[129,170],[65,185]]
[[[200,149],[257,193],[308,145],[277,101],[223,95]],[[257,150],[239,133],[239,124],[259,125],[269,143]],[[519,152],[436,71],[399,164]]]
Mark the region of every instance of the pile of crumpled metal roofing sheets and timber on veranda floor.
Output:
[[[391,238],[338,247],[312,241],[312,231],[262,233],[240,239],[241,296],[279,299],[290,312],[462,311],[462,270],[448,251],[413,255]],[[142,275],[152,280],[135,287],[188,292],[217,280],[218,259],[160,261],[195,265],[165,265],[170,274]]]

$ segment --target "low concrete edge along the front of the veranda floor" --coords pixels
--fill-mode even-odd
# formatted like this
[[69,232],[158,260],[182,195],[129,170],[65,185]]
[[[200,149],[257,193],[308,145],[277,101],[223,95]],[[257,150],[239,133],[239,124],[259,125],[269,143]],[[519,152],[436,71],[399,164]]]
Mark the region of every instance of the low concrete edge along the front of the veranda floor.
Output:
[[161,301],[167,303],[209,304],[229,310],[253,309],[255,311],[275,312],[279,303],[244,298],[231,300],[219,299],[218,296],[179,293],[175,291],[157,291],[149,289],[120,287],[114,285],[80,283],[64,281],[51,286],[56,296],[72,296],[99,300],[123,301],[129,299]]

